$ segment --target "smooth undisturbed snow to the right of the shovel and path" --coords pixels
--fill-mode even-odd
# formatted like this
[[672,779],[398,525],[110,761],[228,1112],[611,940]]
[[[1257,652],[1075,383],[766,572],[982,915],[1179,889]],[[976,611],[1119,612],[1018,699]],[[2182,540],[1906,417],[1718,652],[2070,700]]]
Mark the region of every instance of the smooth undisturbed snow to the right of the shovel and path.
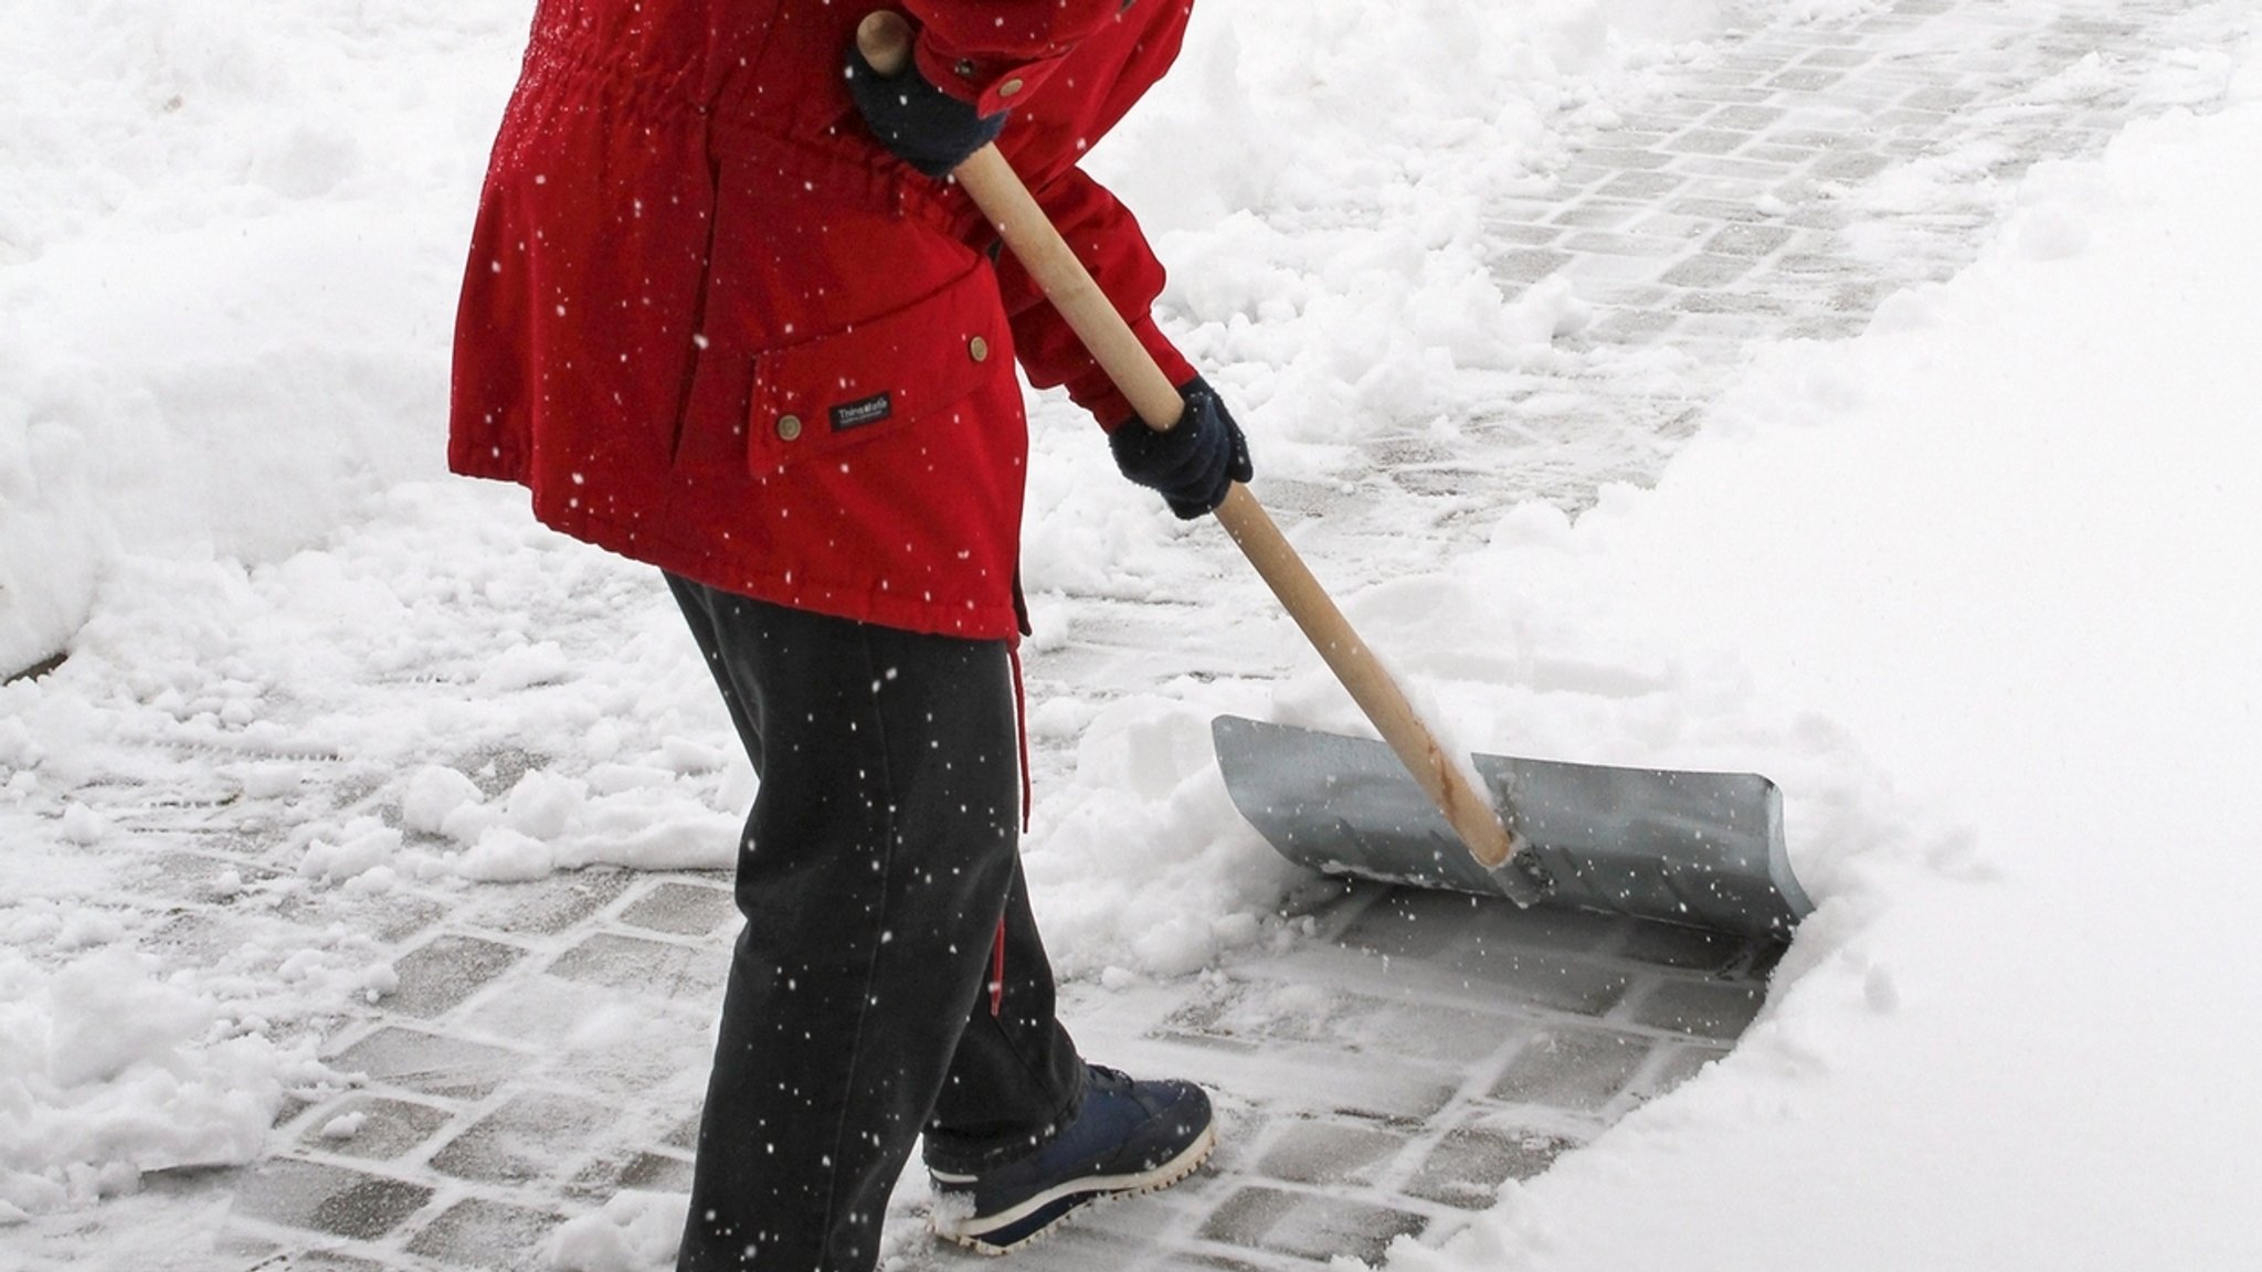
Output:
[[1816,862],[1787,781],[1830,901],[1767,1019],[1405,1267],[2253,1263],[2253,66],[2237,100],[2036,172],[1979,265],[1758,358],[1658,489],[1470,564],[1577,595],[1565,645],[1733,652],[1676,729],[1812,713],[1909,822]]

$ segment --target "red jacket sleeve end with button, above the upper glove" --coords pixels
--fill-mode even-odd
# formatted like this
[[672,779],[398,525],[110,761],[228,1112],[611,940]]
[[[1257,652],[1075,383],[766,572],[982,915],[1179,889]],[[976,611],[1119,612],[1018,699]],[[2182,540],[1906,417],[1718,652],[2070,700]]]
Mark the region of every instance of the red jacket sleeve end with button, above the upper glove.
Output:
[[918,23],[912,57],[930,84],[995,115],[1034,93],[1124,0],[903,0]]

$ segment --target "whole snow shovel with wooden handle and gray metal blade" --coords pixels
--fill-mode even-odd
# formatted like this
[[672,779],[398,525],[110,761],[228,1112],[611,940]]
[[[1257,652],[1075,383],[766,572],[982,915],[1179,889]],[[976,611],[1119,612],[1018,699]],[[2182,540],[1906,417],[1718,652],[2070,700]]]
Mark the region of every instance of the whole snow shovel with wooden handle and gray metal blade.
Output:
[[[898,75],[912,57],[909,20],[884,9],[866,16],[857,25],[857,50],[880,75]],[[991,220],[998,238],[1083,340],[1140,421],[1165,432],[1174,428],[1185,410],[1176,385],[1156,367],[998,147],[984,145],[952,179]],[[1667,794],[1692,774],[1635,772],[1615,783],[1595,783],[1570,776],[1570,765],[1502,760],[1513,765],[1506,772],[1513,781],[1504,783],[1500,765],[1479,763],[1479,772],[1502,797],[1495,810],[1495,801],[1448,756],[1249,487],[1235,482],[1215,516],[1382,736],[1382,742],[1323,733],[1292,738],[1294,731],[1253,722],[1217,722],[1226,788],[1242,815],[1280,853],[1316,869],[1464,887],[1500,894],[1518,905],[1563,896],[1681,923],[1730,930],[1751,923],[1744,903],[1767,887],[1744,869],[1753,844],[1746,835],[1724,851],[1712,835],[1724,826],[1751,826],[1773,844],[1773,856],[1762,856],[1762,867],[1780,860],[1780,801],[1767,779],[1708,790],[1690,803]],[[1389,758],[1396,758],[1396,767]],[[1328,765],[1341,765],[1332,770],[1332,783],[1321,776],[1330,774]],[[1319,792],[1312,792],[1314,779]],[[1694,783],[1690,790],[1694,792]],[[1592,803],[1597,797],[1613,803]],[[1733,803],[1703,808],[1710,799]],[[1642,833],[1631,833],[1633,828]],[[1690,867],[1658,871],[1656,862],[1665,858]],[[1787,862],[1782,865],[1787,880]],[[1654,885],[1651,876],[1667,880]],[[1710,880],[1730,876],[1744,883],[1708,887]],[[1794,910],[1789,921],[1796,921],[1805,899],[1798,892],[1789,896],[1798,899],[1785,899],[1785,908]]]

